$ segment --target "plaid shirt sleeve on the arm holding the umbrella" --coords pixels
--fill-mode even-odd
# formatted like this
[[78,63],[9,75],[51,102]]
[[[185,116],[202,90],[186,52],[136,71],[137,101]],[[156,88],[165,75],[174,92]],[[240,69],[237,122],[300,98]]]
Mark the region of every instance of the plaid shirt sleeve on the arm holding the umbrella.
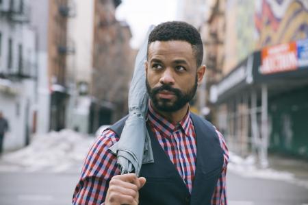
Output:
[[116,156],[108,150],[117,141],[112,130],[105,130],[92,145],[73,194],[74,205],[103,204],[111,178],[120,174]]

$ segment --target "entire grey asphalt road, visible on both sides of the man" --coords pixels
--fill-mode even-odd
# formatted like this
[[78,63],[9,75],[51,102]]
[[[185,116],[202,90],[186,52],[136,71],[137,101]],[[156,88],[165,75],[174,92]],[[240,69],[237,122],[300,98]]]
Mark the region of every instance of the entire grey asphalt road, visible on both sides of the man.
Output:
[[[79,173],[0,172],[1,205],[71,204]],[[281,182],[228,173],[229,205],[308,205],[308,190]]]

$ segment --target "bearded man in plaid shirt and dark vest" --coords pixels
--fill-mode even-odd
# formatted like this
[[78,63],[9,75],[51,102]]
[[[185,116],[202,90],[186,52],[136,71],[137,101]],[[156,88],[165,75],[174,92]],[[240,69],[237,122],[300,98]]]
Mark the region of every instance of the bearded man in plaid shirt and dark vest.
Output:
[[190,112],[205,73],[203,44],[188,23],[173,21],[149,35],[146,89],[147,128],[154,162],[119,175],[109,148],[119,140],[125,120],[94,143],[82,169],[73,204],[227,204],[227,146],[220,132]]

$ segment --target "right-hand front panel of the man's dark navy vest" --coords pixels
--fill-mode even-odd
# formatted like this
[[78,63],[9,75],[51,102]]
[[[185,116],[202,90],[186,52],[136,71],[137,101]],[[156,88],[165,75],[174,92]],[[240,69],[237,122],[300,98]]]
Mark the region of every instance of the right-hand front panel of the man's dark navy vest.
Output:
[[210,204],[218,177],[222,171],[223,155],[214,127],[192,114],[196,132],[196,171],[190,204]]

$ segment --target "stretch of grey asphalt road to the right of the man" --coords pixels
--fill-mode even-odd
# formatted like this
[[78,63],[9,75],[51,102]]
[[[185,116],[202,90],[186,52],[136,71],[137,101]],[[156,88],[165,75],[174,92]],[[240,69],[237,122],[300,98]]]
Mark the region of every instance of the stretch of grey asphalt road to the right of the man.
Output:
[[279,180],[243,178],[229,171],[229,205],[308,205],[308,189]]

